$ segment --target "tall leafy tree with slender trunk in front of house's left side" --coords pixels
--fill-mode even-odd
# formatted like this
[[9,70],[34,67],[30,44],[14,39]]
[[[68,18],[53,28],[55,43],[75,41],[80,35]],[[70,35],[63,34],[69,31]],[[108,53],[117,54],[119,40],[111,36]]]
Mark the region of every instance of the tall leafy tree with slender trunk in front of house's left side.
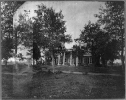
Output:
[[[38,5],[35,10],[34,24],[37,25],[37,43],[41,48],[47,48],[51,54],[52,66],[54,66],[55,50],[65,42],[70,42],[70,36],[65,35],[66,27],[63,21],[62,11],[55,12],[53,8]],[[41,38],[40,38],[41,37]]]

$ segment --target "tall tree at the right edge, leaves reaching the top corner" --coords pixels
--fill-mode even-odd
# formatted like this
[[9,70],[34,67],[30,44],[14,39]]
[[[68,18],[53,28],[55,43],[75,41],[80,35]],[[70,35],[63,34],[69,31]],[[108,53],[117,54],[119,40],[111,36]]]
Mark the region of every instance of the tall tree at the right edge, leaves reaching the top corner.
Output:
[[118,41],[118,51],[121,52],[122,68],[124,69],[124,1],[108,1],[106,8],[101,8],[100,13],[95,16],[98,22],[104,26],[111,40]]

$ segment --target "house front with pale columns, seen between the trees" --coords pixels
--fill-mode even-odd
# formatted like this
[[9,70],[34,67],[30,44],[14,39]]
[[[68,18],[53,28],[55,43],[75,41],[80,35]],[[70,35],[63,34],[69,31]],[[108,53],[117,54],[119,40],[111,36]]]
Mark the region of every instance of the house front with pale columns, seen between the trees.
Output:
[[58,53],[55,58],[55,65],[88,65],[92,64],[92,56],[90,53],[82,54],[81,57],[73,52],[73,49],[67,49],[62,53]]

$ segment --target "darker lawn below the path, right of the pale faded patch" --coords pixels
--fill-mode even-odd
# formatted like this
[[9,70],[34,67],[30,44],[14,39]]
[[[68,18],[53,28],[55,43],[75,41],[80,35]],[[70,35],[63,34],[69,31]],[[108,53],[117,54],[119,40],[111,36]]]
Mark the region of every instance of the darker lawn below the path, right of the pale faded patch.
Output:
[[107,99],[125,95],[122,77],[39,73],[33,80],[31,95],[35,98]]

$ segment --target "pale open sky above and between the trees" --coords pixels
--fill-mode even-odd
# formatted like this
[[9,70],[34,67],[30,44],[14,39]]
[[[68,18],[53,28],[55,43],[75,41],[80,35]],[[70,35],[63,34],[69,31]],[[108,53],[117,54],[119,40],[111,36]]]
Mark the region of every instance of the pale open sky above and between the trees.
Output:
[[[70,34],[73,40],[79,37],[81,30],[85,24],[88,24],[89,20],[93,23],[97,21],[94,14],[98,14],[100,6],[104,6],[104,2],[98,1],[27,1],[15,13],[14,23],[17,23],[19,14],[23,14],[24,10],[30,10],[30,17],[35,16],[34,10],[41,3],[47,7],[52,7],[56,12],[62,10],[67,28],[65,34]],[[65,47],[67,49],[72,48],[73,44],[75,44],[74,41],[65,44]]]

